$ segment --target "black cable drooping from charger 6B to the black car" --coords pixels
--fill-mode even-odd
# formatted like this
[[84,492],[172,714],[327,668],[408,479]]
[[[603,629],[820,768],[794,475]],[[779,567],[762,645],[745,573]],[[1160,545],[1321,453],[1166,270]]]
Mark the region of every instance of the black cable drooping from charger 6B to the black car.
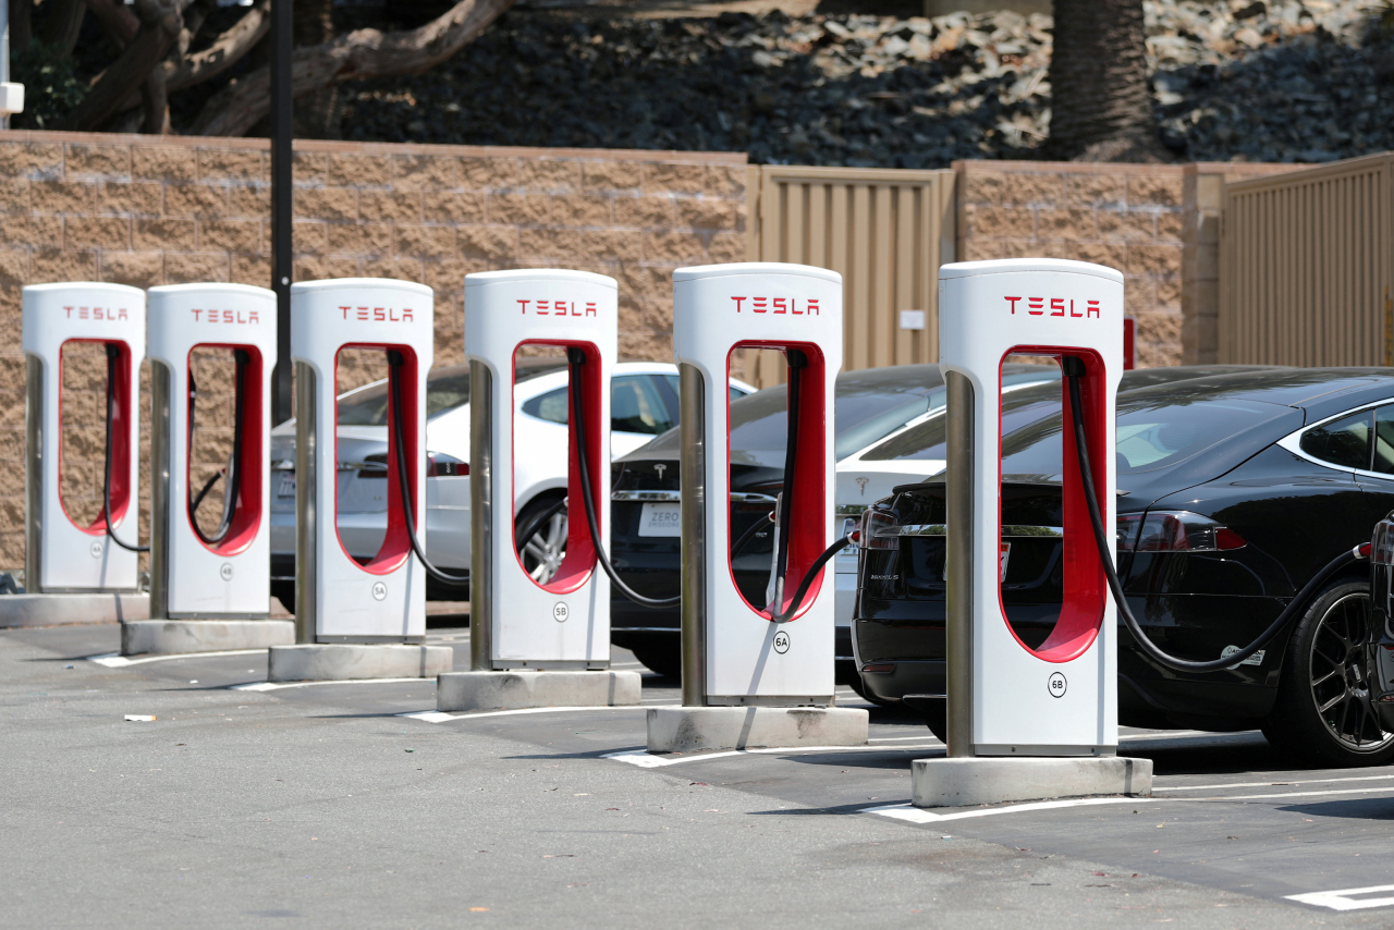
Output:
[[1079,399],[1079,381],[1085,376],[1085,363],[1079,358],[1066,357],[1062,360],[1061,367],[1064,368],[1065,379],[1069,385],[1069,410],[1075,420],[1075,455],[1079,459],[1079,477],[1085,484],[1085,501],[1089,503],[1089,521],[1094,527],[1094,541],[1098,545],[1098,561],[1104,566],[1104,576],[1108,579],[1108,590],[1112,591],[1114,602],[1118,605],[1118,613],[1122,615],[1124,623],[1128,626],[1128,632],[1133,634],[1135,640],[1138,640],[1139,648],[1142,648],[1142,651],[1158,665],[1177,672],[1218,672],[1220,669],[1232,668],[1241,664],[1243,660],[1252,657],[1255,653],[1267,646],[1284,626],[1301,613],[1312,595],[1316,594],[1333,574],[1365,558],[1361,554],[1361,547],[1355,547],[1354,549],[1342,552],[1327,562],[1326,566],[1312,576],[1312,580],[1308,581],[1301,591],[1298,591],[1298,595],[1292,598],[1282,612],[1278,613],[1277,619],[1269,625],[1269,629],[1260,633],[1256,640],[1245,646],[1238,653],[1231,653],[1224,658],[1210,660],[1207,662],[1177,658],[1175,655],[1163,653],[1156,643],[1147,639],[1147,634],[1143,633],[1142,625],[1138,623],[1138,618],[1135,618],[1132,611],[1128,608],[1128,600],[1124,597],[1122,581],[1118,580],[1118,570],[1114,567],[1114,561],[1108,551],[1108,533],[1104,528],[1104,517],[1098,508],[1098,495],[1094,492],[1094,478],[1089,467],[1089,443],[1085,438],[1083,403],[1080,403]]

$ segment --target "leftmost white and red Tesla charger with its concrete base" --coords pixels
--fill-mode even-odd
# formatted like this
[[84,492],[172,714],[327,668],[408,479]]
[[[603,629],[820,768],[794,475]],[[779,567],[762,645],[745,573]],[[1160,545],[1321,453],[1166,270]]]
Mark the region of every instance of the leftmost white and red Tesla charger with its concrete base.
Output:
[[[22,332],[28,367],[25,407],[25,587],[28,595],[6,604],[0,625],[96,622],[145,616],[139,555],[107,533],[99,510],[78,523],[60,495],[63,351],[81,343],[114,351],[105,407],[110,410],[110,516],[113,531],[138,542],[139,367],[145,357],[145,291],[124,284],[32,284],[22,293]],[[110,403],[106,403],[110,402]],[[103,487],[105,487],[103,480]],[[105,508],[103,508],[105,510]],[[43,597],[33,595],[92,595]],[[116,594],[117,597],[112,597]],[[67,612],[75,612],[67,616]]]

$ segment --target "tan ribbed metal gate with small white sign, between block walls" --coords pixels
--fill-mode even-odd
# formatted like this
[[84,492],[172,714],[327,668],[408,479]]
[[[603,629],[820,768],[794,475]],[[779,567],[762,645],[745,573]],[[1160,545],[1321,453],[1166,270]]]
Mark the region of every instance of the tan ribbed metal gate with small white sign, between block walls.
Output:
[[[953,178],[952,170],[751,166],[749,258],[842,275],[845,371],[938,361]],[[783,379],[783,364],[760,353],[746,375],[765,388]]]

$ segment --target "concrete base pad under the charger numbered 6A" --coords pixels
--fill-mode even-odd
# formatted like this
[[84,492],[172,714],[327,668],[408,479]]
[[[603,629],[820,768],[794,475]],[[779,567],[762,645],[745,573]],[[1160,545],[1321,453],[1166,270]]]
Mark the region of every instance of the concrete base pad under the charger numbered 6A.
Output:
[[648,752],[864,746],[867,724],[867,712],[855,707],[654,707]]

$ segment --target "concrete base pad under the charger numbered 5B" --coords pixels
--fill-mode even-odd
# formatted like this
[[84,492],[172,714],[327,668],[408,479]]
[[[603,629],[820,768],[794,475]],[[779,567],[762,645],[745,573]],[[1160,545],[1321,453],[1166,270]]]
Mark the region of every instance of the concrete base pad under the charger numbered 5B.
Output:
[[633,707],[638,672],[452,672],[436,679],[436,710]]

